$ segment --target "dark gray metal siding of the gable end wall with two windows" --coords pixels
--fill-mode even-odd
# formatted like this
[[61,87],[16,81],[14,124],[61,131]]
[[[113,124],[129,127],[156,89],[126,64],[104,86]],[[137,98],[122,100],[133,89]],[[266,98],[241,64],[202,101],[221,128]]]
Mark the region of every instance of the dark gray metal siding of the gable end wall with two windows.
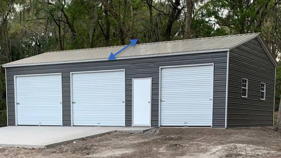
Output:
[[[227,127],[272,126],[275,68],[257,39],[229,54]],[[248,79],[248,97],[241,97],[241,79]],[[260,82],[266,98],[259,99]]]

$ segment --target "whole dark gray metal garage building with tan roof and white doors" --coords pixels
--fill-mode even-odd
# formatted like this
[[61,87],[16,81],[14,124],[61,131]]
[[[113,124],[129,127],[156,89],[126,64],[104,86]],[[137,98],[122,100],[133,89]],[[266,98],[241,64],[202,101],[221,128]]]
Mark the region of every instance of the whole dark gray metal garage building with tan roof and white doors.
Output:
[[258,34],[47,52],[4,64],[8,125],[271,126]]

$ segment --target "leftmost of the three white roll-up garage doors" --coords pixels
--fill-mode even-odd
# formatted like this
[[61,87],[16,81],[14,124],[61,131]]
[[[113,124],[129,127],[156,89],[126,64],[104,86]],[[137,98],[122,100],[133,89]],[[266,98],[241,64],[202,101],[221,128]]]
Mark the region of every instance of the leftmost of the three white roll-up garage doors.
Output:
[[62,125],[61,74],[15,79],[18,125]]

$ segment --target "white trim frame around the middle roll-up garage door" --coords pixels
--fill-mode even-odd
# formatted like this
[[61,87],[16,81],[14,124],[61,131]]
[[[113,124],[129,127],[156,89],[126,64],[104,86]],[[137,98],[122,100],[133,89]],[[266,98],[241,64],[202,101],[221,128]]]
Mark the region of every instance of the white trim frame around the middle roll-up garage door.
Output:
[[77,72],[70,72],[70,126],[73,125],[73,88],[72,88],[72,76],[73,74],[78,74],[78,73],[95,73],[95,72],[111,72],[111,71],[124,71],[124,126],[126,126],[126,71],[125,69],[113,69],[113,70],[97,70],[97,71],[77,71]]

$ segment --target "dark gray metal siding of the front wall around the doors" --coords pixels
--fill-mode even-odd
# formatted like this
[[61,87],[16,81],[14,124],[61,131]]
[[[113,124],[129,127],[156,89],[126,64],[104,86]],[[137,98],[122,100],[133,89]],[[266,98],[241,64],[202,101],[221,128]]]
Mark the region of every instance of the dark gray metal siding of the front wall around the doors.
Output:
[[9,125],[15,125],[14,75],[62,73],[63,125],[71,125],[70,72],[125,69],[125,124],[131,126],[132,78],[152,77],[152,126],[159,118],[159,67],[214,63],[213,127],[224,127],[227,52],[7,68]]

